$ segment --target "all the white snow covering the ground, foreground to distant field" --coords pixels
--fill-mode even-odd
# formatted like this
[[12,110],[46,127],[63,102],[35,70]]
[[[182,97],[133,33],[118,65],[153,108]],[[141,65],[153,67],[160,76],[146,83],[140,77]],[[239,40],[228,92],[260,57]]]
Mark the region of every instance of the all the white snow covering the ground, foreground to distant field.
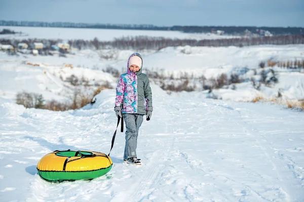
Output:
[[[61,30],[63,39],[84,37],[82,30],[86,31],[16,28],[43,38],[57,37],[54,33]],[[48,35],[46,30],[54,32]],[[111,34],[131,33],[120,31]],[[113,37],[106,30],[95,29],[87,32],[87,37],[92,39],[97,32],[108,40]],[[139,32],[133,30],[132,34]],[[151,80],[154,112],[139,130],[141,166],[123,162],[125,135],[118,132],[110,155],[113,167],[106,175],[63,183],[41,179],[36,165],[51,151],[108,154],[117,124],[115,89],[102,90],[94,105],[65,112],[26,109],[15,104],[16,94],[24,90],[43,94],[46,100],[68,99],[77,88],[64,81],[71,75],[87,79],[91,86],[83,90],[88,92],[95,82],[115,87],[118,78],[101,70],[112,67],[126,71],[126,60],[133,52],[87,49],[66,58],[56,54],[16,57],[0,52],[1,201],[304,201],[303,112],[274,103],[248,102],[256,95],[271,97],[279,91],[290,99],[304,98],[304,74],[278,67],[274,70],[279,83],[262,85],[260,91],[250,82],[236,84],[236,89],[226,86],[213,90],[212,94],[222,100],[206,98],[210,96],[207,91],[169,95]],[[143,71],[172,74],[174,78],[185,73],[207,79],[222,73],[256,78],[261,61],[302,61],[304,45],[180,46],[140,53]],[[113,58],[106,60],[103,55]],[[242,72],[245,67],[248,71]]]

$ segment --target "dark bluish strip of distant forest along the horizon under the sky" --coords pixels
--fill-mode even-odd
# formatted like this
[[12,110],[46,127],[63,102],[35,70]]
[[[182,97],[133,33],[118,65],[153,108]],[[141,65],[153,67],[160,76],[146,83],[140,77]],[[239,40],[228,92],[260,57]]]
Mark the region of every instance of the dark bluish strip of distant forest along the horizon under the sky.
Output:
[[267,30],[273,35],[304,34],[303,27],[255,27],[255,26],[154,26],[154,25],[125,25],[125,24],[88,24],[70,22],[28,22],[28,21],[0,21],[0,26],[27,27],[66,27],[66,28],[94,28],[94,29],[136,29],[136,30],[172,30],[186,33],[210,33],[222,30],[225,34],[243,34],[245,30],[252,33],[257,30]]

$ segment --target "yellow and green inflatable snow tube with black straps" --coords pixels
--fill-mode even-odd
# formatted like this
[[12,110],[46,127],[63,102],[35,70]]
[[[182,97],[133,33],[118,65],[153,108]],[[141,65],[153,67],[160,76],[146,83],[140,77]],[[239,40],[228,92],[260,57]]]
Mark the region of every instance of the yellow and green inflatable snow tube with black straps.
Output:
[[95,151],[54,151],[37,165],[39,175],[47,181],[89,180],[100,177],[112,168],[109,156]]

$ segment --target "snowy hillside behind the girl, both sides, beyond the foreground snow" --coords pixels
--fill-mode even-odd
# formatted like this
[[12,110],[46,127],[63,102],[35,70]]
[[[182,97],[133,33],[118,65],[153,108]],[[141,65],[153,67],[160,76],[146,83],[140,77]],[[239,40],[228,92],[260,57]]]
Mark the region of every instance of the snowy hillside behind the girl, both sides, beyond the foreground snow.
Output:
[[[1,88],[0,96],[14,99],[21,90],[42,93],[46,99],[64,99],[62,95],[73,93],[73,86],[62,82],[71,75],[77,75],[93,83],[109,82],[112,87],[117,84],[118,78],[102,72],[106,68],[126,71],[126,60],[133,53],[132,50],[99,50],[85,49],[67,55],[66,58],[58,56],[32,56],[19,54],[19,57],[0,53]],[[160,51],[141,51],[144,58],[143,71],[156,72],[166,77],[179,79],[188,75],[199,79],[216,78],[221,74],[238,74],[246,83],[235,84],[236,89],[214,90],[213,94],[222,99],[237,101],[251,100],[257,94],[273,97],[280,91],[289,99],[304,98],[304,74],[290,72],[278,67],[274,70],[278,74],[279,83],[272,87],[262,86],[257,91],[250,79],[258,79],[261,61],[289,61],[304,60],[304,45],[260,45],[247,47],[167,47]],[[105,59],[104,55],[112,56]],[[26,64],[38,64],[39,67]],[[71,65],[73,69],[65,68]],[[266,69],[269,71],[269,69]],[[245,71],[245,72],[244,72]],[[255,74],[257,74],[255,76]],[[33,81],[33,79],[35,81]],[[153,81],[152,82],[157,82]],[[166,81],[167,82],[167,81]],[[193,81],[195,83],[196,81]],[[201,84],[197,85],[202,90]]]

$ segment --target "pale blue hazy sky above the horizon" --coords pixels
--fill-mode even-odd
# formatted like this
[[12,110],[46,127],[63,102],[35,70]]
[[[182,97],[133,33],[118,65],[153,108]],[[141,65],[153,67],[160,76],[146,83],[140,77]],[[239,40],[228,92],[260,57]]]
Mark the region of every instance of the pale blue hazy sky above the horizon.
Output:
[[304,0],[0,0],[0,20],[304,27]]

